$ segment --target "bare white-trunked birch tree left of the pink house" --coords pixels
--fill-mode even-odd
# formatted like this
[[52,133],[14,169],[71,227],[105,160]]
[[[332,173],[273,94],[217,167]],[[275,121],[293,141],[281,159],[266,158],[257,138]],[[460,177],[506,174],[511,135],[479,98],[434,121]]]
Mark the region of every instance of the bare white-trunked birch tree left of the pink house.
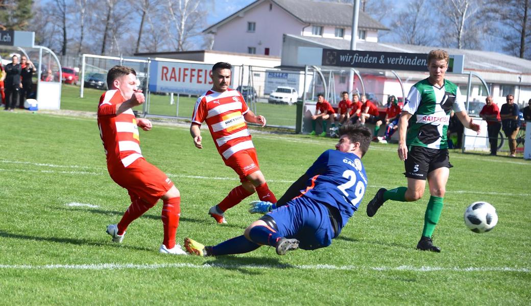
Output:
[[[177,51],[187,50],[190,38],[201,35],[204,14],[198,10],[201,0],[167,0],[170,41]],[[174,30],[174,31],[172,31]]]

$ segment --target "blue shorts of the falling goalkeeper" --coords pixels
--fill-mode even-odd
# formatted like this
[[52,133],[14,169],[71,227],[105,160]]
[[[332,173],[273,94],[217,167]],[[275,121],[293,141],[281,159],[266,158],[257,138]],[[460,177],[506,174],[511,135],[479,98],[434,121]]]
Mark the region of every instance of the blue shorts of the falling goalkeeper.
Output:
[[329,214],[324,204],[305,196],[294,198],[268,213],[277,223],[278,233],[297,239],[303,250],[330,246],[334,231]]

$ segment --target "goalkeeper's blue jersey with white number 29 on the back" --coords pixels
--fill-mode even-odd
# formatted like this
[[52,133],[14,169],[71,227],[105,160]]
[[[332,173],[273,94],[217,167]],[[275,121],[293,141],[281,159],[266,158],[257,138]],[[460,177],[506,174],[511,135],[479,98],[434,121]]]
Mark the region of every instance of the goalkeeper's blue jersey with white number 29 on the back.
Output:
[[353,153],[327,150],[306,171],[310,177],[301,193],[336,207],[341,214],[340,226],[357,211],[365,195],[367,175],[362,161]]

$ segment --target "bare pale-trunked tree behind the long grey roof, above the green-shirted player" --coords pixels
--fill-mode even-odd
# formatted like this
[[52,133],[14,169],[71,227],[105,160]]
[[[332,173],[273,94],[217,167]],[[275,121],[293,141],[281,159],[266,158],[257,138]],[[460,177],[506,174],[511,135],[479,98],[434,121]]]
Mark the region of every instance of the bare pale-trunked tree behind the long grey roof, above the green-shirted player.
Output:
[[477,45],[481,34],[477,27],[483,20],[476,17],[482,4],[483,0],[433,0],[433,6],[440,12],[439,29],[444,31],[445,46],[463,49]]

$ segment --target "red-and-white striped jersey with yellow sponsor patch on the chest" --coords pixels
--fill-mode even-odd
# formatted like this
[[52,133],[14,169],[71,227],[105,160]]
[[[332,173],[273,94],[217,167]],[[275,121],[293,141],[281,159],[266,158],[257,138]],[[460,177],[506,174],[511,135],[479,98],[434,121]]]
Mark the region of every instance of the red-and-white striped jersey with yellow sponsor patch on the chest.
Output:
[[238,151],[254,148],[243,117],[247,111],[247,104],[237,90],[209,90],[195,102],[192,123],[207,122],[219,154],[227,160]]

